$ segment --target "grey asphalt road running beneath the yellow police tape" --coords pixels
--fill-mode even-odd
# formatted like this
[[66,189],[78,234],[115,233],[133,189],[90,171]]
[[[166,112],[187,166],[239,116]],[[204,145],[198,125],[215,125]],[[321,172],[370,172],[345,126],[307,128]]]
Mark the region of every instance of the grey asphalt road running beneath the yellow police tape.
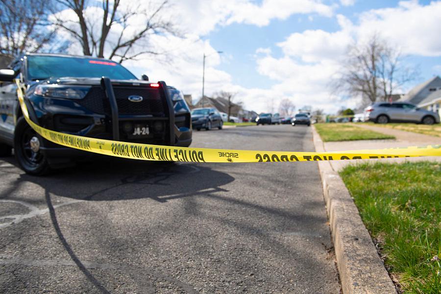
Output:
[[[194,147],[313,151],[311,129]],[[105,158],[46,177],[0,160],[0,293],[339,293],[317,164]]]

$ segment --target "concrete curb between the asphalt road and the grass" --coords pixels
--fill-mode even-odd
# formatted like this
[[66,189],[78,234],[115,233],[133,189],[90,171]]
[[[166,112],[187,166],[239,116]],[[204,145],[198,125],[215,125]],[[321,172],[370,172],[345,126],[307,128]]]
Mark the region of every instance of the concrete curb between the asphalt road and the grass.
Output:
[[[313,127],[316,151],[323,142]],[[396,294],[358,209],[329,161],[318,161],[343,294]]]

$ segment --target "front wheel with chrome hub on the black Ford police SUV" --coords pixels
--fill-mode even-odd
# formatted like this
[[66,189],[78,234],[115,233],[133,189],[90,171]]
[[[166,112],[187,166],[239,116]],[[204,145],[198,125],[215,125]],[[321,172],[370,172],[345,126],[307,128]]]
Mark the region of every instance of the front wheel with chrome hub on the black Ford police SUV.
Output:
[[21,117],[14,132],[14,154],[22,169],[29,174],[43,175],[50,167],[46,156],[41,152],[42,138]]

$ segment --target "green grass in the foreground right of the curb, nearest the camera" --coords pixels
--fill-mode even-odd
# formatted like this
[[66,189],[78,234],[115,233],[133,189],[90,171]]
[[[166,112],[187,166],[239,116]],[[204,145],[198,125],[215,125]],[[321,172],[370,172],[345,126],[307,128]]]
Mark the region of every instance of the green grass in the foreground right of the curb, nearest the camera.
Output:
[[441,165],[361,164],[340,175],[404,293],[441,293]]

